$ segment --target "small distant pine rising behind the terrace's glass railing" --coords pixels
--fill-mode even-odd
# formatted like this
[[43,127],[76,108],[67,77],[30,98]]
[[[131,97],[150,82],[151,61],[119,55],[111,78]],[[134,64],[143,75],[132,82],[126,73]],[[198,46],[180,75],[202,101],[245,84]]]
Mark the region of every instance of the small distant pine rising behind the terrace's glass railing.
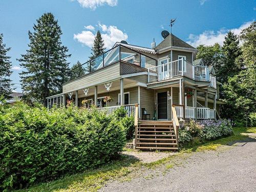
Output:
[[[98,30],[97,34],[94,38],[94,41],[93,41],[93,47],[92,47],[92,53],[91,53],[90,60],[93,59],[94,57],[97,57],[100,54],[102,54],[104,52],[104,50],[105,50],[104,40],[102,39],[100,31]],[[94,71],[98,67],[99,63],[101,63],[102,61],[103,61],[103,57],[96,58],[95,60],[92,60],[91,67],[88,66],[88,68],[91,68],[91,69],[88,69],[88,71],[90,71],[90,70]]]

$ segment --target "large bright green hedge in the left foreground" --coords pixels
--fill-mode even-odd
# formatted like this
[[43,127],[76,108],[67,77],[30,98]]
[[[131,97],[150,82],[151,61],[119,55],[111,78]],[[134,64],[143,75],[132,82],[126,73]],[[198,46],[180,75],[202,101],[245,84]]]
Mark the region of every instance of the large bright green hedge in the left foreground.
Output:
[[96,167],[125,144],[118,115],[24,103],[0,107],[0,190]]

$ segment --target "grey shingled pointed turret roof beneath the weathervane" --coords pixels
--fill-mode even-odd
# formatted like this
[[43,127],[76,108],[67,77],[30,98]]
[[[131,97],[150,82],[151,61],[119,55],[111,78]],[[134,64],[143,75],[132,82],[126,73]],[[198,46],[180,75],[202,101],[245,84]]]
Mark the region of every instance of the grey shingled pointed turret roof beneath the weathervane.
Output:
[[176,37],[172,33],[170,33],[165,39],[163,39],[162,42],[160,42],[160,44],[157,45],[156,49],[160,50],[170,46],[196,49],[193,46],[187,44],[185,41]]

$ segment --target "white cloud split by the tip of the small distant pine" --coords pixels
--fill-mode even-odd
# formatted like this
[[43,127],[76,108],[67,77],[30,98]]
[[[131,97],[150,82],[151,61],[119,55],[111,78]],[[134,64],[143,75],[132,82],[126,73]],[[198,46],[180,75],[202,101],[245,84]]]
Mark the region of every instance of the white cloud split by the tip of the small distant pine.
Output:
[[[106,26],[104,24],[98,24],[99,28],[103,33],[101,36],[104,40],[104,45],[106,49],[110,49],[117,41],[126,40],[128,35],[118,29],[116,26]],[[93,46],[94,37],[96,34],[93,34],[91,31],[82,31],[81,33],[74,34],[74,39],[81,42],[83,45],[88,47]]]

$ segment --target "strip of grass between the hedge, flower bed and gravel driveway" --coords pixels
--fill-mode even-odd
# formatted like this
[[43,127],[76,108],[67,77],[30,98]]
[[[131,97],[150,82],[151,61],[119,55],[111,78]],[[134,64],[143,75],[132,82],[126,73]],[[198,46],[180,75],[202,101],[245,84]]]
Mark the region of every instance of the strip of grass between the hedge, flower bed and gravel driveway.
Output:
[[181,152],[178,155],[170,156],[153,163],[144,164],[136,161],[135,159],[131,159],[126,156],[121,156],[119,160],[103,165],[98,169],[88,170],[87,172],[84,172],[81,174],[66,176],[62,179],[58,179],[48,183],[40,183],[28,189],[15,190],[15,192],[17,191],[19,192],[96,191],[106,181],[127,176],[132,172],[139,172],[139,169],[141,167],[154,168],[159,165],[166,164],[165,165],[166,169],[169,169],[176,164],[175,159],[178,159],[179,156],[181,157],[184,154],[189,154],[191,152],[205,151],[205,150],[216,150],[217,147],[221,145],[226,145],[233,141],[244,140],[248,136],[241,135],[241,133],[256,133],[256,127],[250,127],[247,129],[245,127],[234,127],[233,132],[234,132],[234,135],[230,137],[225,137],[225,138],[221,138],[221,139],[207,142],[204,144],[199,144],[191,148],[185,148],[184,150],[181,150]]

